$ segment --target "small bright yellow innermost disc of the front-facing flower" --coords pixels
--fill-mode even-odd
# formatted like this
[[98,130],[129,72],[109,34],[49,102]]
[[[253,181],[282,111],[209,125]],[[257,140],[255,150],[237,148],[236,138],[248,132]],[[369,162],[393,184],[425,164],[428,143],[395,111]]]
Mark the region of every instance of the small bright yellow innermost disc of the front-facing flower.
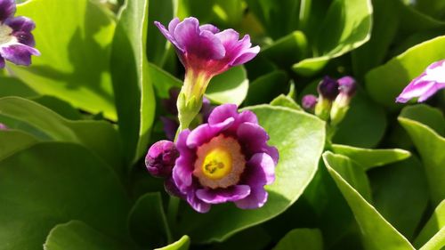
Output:
[[202,173],[212,180],[231,173],[231,153],[224,148],[211,150],[202,164]]

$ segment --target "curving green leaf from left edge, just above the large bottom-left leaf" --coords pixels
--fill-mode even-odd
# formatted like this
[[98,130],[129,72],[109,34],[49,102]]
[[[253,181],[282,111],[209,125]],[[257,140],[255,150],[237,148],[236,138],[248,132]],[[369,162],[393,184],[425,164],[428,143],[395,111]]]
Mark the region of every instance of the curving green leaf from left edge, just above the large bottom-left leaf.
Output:
[[0,98],[0,121],[2,117],[15,120],[18,122],[17,129],[34,135],[39,141],[66,141],[83,145],[121,173],[118,134],[108,122],[70,121],[36,102],[20,97]]

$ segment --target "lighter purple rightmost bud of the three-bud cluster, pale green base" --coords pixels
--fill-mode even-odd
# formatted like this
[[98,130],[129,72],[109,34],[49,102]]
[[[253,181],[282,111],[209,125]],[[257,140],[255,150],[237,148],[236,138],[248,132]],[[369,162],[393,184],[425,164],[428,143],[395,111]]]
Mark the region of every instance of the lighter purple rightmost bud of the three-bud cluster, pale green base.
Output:
[[349,103],[357,88],[355,79],[352,77],[338,79],[338,85],[339,93],[336,96],[336,101],[332,104],[330,112],[331,125],[338,125],[344,119],[349,109]]

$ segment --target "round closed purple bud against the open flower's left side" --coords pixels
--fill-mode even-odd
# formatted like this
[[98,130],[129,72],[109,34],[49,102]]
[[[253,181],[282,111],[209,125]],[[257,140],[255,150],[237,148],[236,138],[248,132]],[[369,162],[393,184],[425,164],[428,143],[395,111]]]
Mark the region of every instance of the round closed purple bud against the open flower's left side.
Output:
[[173,141],[157,141],[151,145],[145,157],[145,165],[151,175],[167,178],[172,174],[177,157],[179,157],[179,152]]

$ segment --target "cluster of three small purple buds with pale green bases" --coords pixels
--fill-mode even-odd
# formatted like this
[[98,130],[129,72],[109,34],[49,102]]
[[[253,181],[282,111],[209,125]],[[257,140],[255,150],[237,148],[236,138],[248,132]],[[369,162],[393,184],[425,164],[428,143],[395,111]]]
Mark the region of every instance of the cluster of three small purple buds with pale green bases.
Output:
[[324,77],[317,88],[319,97],[308,94],[303,96],[302,106],[317,117],[330,121],[330,125],[338,125],[349,109],[349,103],[356,91],[356,83],[352,77],[341,77],[338,80]]

